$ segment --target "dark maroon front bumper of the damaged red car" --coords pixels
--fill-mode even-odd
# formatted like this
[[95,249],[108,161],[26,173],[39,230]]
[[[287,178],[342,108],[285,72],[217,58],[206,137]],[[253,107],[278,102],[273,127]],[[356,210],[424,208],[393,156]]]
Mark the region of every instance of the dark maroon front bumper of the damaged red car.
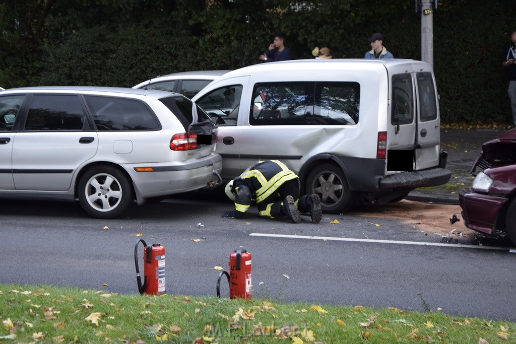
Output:
[[459,205],[464,225],[474,231],[492,234],[498,214],[509,199],[462,189]]

